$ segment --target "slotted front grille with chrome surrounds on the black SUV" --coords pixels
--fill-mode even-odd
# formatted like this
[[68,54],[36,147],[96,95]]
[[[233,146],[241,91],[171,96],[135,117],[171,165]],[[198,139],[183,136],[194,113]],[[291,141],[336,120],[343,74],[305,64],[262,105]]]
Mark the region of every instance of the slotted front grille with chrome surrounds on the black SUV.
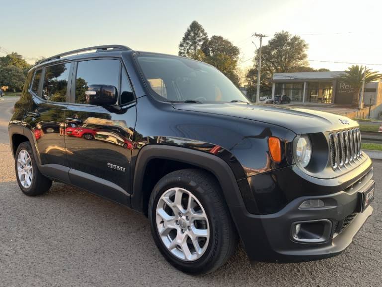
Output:
[[334,169],[353,163],[362,156],[359,128],[329,134],[329,146]]

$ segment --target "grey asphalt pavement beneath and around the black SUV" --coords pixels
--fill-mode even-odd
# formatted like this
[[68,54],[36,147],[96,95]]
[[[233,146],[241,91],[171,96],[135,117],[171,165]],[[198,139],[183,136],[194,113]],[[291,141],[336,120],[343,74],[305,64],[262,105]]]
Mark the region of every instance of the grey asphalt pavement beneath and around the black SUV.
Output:
[[[0,143],[0,287],[382,285],[381,176],[375,176],[373,216],[341,255],[251,265],[239,247],[218,271],[192,277],[163,259],[143,215],[59,183],[43,196],[27,197],[13,164],[9,145]],[[375,161],[375,174],[382,174],[382,161]]]

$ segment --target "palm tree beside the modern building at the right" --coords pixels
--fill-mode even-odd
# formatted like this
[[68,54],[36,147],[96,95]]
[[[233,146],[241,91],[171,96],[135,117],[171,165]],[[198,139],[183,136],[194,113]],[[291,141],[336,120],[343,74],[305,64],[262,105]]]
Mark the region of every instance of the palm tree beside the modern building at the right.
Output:
[[362,87],[362,80],[365,73],[365,84],[379,81],[382,79],[382,74],[372,71],[364,66],[353,65],[349,67],[341,79],[347,82],[354,89],[353,106],[357,107],[360,99],[360,90]]

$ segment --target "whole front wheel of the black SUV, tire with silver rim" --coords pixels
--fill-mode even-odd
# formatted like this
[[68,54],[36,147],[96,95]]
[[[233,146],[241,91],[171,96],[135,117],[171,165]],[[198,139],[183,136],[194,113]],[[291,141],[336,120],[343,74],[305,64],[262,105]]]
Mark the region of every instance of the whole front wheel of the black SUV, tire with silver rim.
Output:
[[[181,217],[178,213],[180,208],[176,206],[176,195],[173,197],[173,192],[182,194],[180,198],[183,201],[180,202],[182,202],[184,214],[181,213]],[[167,203],[170,203],[172,207]],[[189,208],[189,205],[193,207]],[[188,211],[185,211],[186,208]],[[166,221],[168,228],[165,228],[165,220],[159,215],[163,214],[163,211],[167,215],[174,214],[173,217],[164,216],[175,219],[175,221],[174,219]],[[183,169],[171,172],[160,179],[150,196],[148,217],[155,244],[162,255],[174,267],[185,273],[196,275],[212,272],[222,266],[236,249],[238,241],[236,229],[220,186],[216,179],[205,171]],[[195,218],[202,218],[202,220]],[[182,228],[184,228],[183,231]],[[168,232],[168,230],[171,231]],[[162,236],[160,232],[163,232]],[[168,235],[166,235],[167,232]],[[202,236],[197,237],[196,234]],[[205,234],[208,236],[203,237]],[[187,246],[177,245],[181,242],[177,241],[178,235],[186,238]],[[197,238],[196,244],[191,237]],[[189,257],[186,258],[186,255]]]

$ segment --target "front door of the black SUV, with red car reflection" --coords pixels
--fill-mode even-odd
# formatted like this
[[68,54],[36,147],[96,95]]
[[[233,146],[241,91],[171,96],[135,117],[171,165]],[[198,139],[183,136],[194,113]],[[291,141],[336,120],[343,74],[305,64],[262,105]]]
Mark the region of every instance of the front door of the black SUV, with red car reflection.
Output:
[[[119,59],[79,61],[72,82],[73,103],[65,114],[70,180],[128,205],[136,108],[126,71]],[[89,104],[88,86],[95,84],[114,86],[119,103],[126,103],[122,110]]]

